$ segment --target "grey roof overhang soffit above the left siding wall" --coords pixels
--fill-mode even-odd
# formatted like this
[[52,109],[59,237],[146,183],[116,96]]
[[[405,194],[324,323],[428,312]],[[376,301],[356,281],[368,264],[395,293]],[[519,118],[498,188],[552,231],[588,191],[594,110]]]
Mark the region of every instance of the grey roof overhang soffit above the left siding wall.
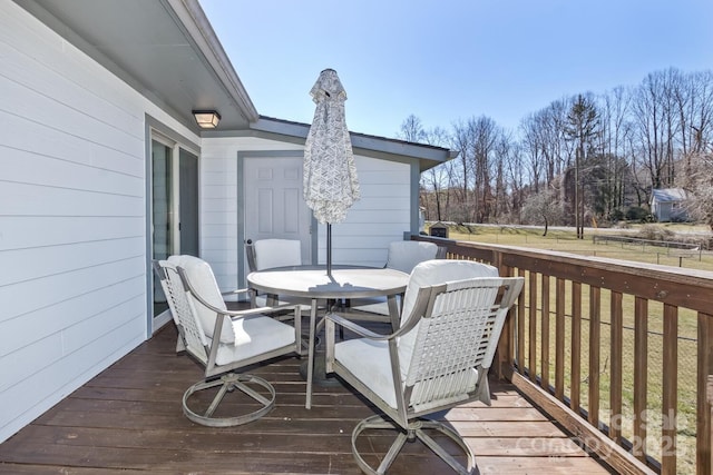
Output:
[[196,133],[194,109],[217,130],[258,118],[197,0],[14,1]]

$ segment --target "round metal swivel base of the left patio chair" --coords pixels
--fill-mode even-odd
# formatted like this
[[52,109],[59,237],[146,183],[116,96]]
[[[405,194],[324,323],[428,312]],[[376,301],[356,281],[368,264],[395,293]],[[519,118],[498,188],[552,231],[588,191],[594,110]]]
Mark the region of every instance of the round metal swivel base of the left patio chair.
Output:
[[[270,397],[265,397],[248,384],[260,386],[270,393]],[[191,407],[188,407],[188,399],[197,392],[211,389],[219,386],[217,394],[213,398],[213,402],[203,414],[197,414]],[[261,407],[248,414],[243,414],[234,417],[213,417],[213,414],[217,409],[218,405],[227,393],[233,390],[240,390],[247,396],[252,397],[260,403]],[[275,389],[265,379],[252,375],[238,375],[236,373],[228,373],[213,380],[203,380],[191,386],[183,395],[183,413],[185,416],[196,424],[201,424],[208,427],[231,427],[241,424],[247,424],[256,420],[267,414],[275,406]]]

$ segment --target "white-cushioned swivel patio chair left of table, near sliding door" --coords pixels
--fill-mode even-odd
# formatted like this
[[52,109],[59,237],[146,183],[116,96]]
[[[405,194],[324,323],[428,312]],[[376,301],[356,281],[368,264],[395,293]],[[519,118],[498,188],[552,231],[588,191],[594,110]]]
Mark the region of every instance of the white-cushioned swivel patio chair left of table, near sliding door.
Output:
[[[167,296],[186,353],[205,368],[205,379],[184,393],[186,417],[205,426],[227,427],[267,414],[275,405],[275,389],[265,379],[240,374],[237,369],[276,356],[300,354],[300,308],[294,308],[294,326],[265,315],[280,307],[228,310],[211,266],[197,257],[170,256],[168,260],[154,261],[154,270]],[[212,396],[213,393],[213,400],[205,404],[204,395]],[[250,408],[246,414],[221,414],[219,404],[228,393],[250,396],[258,403],[257,408],[251,402],[238,406]],[[198,406],[207,408],[198,410]]]

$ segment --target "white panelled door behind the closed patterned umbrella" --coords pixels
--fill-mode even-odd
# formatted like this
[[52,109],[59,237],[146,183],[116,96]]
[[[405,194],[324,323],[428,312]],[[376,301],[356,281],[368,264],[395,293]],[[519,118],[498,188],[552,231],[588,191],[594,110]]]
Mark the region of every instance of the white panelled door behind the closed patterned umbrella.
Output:
[[312,261],[312,211],[302,197],[302,155],[246,157],[245,239],[299,239],[302,261]]

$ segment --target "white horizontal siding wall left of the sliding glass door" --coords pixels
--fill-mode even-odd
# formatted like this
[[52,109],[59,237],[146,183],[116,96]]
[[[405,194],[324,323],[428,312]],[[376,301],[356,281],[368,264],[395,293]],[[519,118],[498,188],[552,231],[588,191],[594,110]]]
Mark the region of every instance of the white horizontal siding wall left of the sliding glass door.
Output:
[[145,113],[195,136],[8,1],[0,63],[2,442],[146,338]]

